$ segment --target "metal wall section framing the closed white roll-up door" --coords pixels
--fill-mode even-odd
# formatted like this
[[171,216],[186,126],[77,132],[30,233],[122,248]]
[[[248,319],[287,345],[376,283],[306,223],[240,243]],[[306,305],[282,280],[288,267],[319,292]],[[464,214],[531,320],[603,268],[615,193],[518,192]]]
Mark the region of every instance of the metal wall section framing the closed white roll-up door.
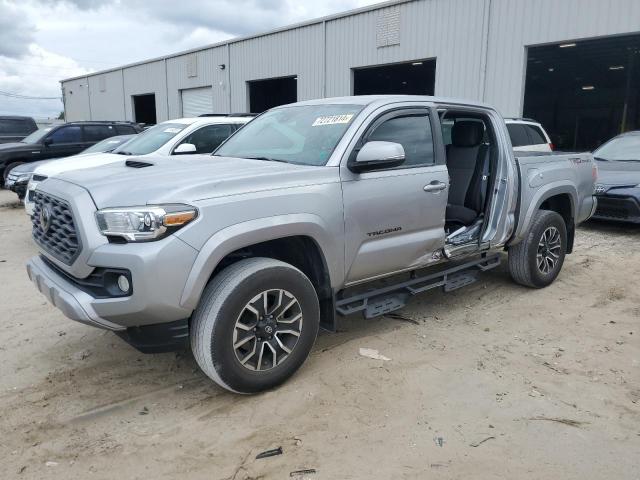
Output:
[[[193,60],[195,58],[195,61]],[[189,71],[195,62],[195,72]],[[224,65],[224,69],[220,66]],[[210,48],[167,59],[169,118],[182,116],[180,90],[212,87],[213,112],[229,112],[229,59],[227,47]],[[195,73],[195,75],[194,75]]]

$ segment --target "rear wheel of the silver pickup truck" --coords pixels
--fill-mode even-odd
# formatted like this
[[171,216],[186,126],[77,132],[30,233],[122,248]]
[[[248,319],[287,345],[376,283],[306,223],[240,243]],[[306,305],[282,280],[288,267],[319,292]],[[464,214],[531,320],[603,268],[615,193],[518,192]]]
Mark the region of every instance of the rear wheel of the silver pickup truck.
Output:
[[[550,243],[543,237],[545,234],[553,234],[553,238],[556,238],[555,232],[559,238],[559,248],[555,246],[557,244],[555,240]],[[549,248],[549,245],[554,247]],[[533,217],[527,236],[520,243],[509,248],[511,278],[526,287],[546,287],[558,277],[566,252],[567,226],[564,219],[556,212],[539,210]],[[556,256],[557,259],[555,259]],[[542,266],[540,266],[541,259]],[[551,267],[550,264],[554,259],[555,264]],[[545,269],[547,271],[544,271]]]

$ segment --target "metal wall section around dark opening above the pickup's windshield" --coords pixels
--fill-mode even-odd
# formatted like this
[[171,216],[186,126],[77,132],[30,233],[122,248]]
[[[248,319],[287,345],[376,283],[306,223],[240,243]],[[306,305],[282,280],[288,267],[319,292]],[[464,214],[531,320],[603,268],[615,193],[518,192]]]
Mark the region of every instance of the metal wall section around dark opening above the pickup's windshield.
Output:
[[298,100],[323,96],[322,24],[232,43],[231,109],[248,111],[247,81],[297,75]]

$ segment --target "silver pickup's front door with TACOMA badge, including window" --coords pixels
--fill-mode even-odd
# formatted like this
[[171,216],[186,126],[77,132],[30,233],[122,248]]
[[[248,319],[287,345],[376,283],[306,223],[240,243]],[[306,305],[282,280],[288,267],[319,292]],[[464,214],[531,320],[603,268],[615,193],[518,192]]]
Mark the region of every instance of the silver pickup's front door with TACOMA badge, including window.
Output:
[[403,164],[359,174],[341,169],[348,283],[424,266],[444,247],[449,176],[434,148],[438,125],[427,108],[383,114],[350,159],[368,141],[387,141],[404,147]]

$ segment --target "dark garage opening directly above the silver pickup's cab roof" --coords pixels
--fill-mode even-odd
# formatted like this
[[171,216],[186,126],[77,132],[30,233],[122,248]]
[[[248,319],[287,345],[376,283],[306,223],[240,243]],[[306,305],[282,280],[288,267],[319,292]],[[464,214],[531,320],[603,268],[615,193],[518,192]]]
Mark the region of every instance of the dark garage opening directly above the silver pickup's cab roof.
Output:
[[433,95],[435,84],[435,60],[416,60],[353,70],[354,95]]

